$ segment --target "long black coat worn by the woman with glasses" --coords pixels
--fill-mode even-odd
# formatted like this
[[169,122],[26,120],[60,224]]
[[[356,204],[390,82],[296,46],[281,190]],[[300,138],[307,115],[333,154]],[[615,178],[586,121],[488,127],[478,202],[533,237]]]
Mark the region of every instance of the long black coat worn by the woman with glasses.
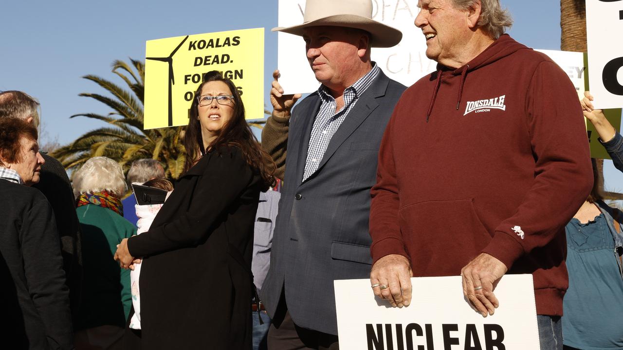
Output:
[[128,240],[145,257],[143,349],[251,349],[260,183],[239,148],[212,151],[179,179],[149,232]]

